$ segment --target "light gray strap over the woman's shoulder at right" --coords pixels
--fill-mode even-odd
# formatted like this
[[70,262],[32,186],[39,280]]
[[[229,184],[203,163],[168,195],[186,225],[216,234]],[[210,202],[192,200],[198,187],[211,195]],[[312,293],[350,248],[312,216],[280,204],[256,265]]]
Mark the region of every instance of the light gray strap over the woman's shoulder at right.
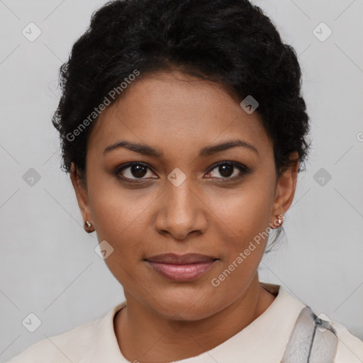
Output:
[[306,306],[298,315],[281,363],[333,363],[336,350],[334,328]]

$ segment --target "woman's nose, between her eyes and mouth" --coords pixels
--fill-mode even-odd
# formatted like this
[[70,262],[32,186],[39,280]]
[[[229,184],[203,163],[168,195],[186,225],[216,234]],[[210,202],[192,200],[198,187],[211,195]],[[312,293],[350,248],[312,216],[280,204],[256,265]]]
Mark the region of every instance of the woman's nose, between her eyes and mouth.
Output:
[[208,207],[190,179],[176,186],[167,181],[155,219],[155,229],[174,240],[185,241],[191,235],[205,233]]

